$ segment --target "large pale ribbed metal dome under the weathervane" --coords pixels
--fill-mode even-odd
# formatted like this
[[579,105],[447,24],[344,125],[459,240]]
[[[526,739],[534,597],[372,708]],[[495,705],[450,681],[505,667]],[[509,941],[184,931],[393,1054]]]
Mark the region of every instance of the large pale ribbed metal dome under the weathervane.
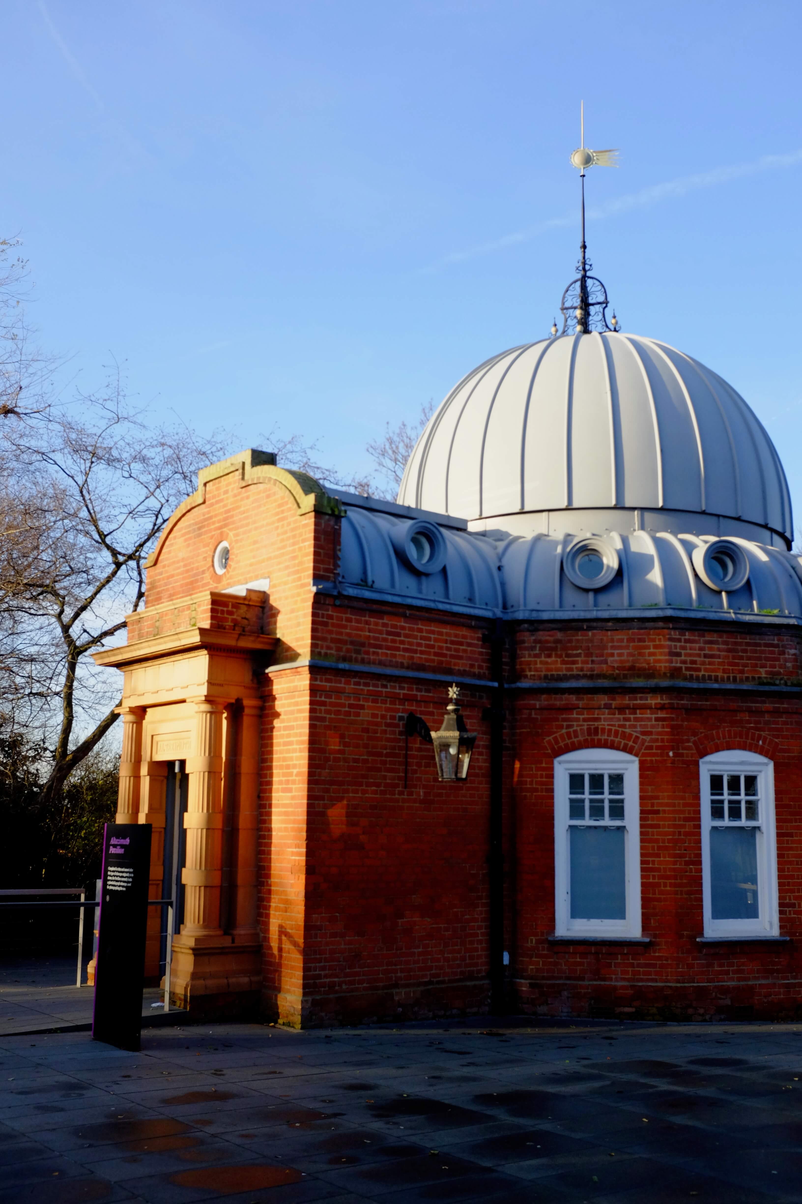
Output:
[[398,501],[469,520],[541,510],[724,515],[792,538],[785,473],[720,376],[637,335],[566,335],[469,372],[429,420]]

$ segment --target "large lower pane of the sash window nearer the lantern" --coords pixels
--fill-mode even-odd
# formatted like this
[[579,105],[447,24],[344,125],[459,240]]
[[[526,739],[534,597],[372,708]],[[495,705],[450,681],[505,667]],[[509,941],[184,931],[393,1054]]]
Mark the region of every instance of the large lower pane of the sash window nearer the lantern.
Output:
[[569,828],[572,920],[626,919],[624,832]]

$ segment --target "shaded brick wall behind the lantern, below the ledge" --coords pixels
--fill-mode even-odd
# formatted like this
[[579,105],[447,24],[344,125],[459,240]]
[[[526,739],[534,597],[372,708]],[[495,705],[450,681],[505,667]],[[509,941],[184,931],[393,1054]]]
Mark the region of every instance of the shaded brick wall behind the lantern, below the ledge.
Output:
[[[468,781],[440,785],[446,691],[317,671],[310,681],[304,993],[311,1017],[479,1010],[487,996],[487,740]],[[471,730],[480,697],[464,700]]]

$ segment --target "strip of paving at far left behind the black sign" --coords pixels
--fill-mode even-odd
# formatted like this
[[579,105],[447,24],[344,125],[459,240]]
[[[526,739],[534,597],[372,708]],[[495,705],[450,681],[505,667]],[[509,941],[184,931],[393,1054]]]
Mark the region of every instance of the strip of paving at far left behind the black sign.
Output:
[[[0,1038],[90,1025],[95,992],[93,987],[75,985],[76,962],[72,955],[58,954],[0,961]],[[161,1016],[164,998],[158,987],[145,990],[142,1015]]]

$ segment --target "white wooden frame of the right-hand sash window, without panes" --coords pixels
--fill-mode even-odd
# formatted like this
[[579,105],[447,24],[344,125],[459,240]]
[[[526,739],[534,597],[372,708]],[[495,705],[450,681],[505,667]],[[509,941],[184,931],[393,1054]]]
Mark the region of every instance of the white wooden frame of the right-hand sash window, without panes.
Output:
[[[758,820],[738,824],[738,827],[758,828],[758,899],[760,917],[756,920],[713,920],[711,890],[711,828],[727,827],[711,819],[711,774],[754,773],[759,778]],[[699,762],[701,822],[702,822],[702,902],[706,937],[759,938],[779,936],[779,907],[777,896],[777,837],[774,830],[774,765],[765,756],[744,749],[727,749],[713,752]],[[726,808],[725,808],[726,814]],[[735,825],[733,825],[735,826]]]

